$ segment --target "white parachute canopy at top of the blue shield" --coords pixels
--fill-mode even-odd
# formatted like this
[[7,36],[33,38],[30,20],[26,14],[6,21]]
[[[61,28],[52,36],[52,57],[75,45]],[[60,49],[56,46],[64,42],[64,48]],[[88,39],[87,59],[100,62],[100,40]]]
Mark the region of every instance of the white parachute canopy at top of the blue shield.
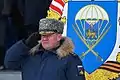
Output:
[[85,20],[88,24],[94,25],[97,23],[100,19],[101,20],[107,20],[109,22],[109,17],[107,12],[98,5],[87,5],[80,9],[80,11],[77,13],[75,17],[76,20]]

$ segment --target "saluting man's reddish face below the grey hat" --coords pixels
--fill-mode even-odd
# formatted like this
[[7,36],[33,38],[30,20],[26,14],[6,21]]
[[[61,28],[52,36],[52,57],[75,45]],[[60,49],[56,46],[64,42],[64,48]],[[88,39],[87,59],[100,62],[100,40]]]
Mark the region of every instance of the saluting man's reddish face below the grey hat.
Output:
[[50,50],[59,45],[59,41],[62,38],[62,34],[49,33],[46,35],[41,35],[41,43],[44,49]]

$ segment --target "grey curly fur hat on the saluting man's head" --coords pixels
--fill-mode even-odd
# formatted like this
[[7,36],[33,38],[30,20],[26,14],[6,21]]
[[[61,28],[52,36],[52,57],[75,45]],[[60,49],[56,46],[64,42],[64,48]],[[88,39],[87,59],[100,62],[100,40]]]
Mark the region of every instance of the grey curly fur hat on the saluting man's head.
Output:
[[39,21],[39,33],[63,33],[64,23],[60,20],[43,18]]

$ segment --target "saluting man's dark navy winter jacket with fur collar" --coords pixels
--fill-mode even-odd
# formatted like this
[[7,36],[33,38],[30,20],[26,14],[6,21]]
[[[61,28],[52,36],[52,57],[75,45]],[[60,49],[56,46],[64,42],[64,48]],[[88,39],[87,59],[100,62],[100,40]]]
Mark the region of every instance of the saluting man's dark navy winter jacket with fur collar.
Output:
[[21,70],[23,80],[85,80],[82,62],[71,52],[71,46],[70,40],[65,38],[55,50],[39,50],[30,55],[21,40],[7,51],[5,67]]

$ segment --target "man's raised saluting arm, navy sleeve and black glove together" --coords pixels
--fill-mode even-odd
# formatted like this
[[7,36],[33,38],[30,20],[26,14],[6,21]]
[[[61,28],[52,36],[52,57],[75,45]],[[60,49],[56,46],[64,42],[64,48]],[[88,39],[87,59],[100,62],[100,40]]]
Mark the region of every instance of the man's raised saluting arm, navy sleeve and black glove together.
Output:
[[36,32],[31,34],[26,40],[18,41],[7,50],[4,65],[8,69],[20,69],[22,64],[29,57],[30,49],[38,44],[40,35]]

